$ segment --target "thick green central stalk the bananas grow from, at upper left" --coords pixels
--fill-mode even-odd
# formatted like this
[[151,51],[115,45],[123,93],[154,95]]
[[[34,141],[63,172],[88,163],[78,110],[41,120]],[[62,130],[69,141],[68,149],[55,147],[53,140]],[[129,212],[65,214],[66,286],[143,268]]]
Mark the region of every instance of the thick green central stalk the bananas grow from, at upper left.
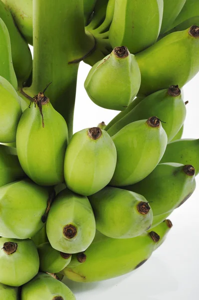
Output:
[[72,135],[79,62],[95,47],[85,33],[83,0],[33,0],[33,79],[23,91],[29,96],[46,90]]

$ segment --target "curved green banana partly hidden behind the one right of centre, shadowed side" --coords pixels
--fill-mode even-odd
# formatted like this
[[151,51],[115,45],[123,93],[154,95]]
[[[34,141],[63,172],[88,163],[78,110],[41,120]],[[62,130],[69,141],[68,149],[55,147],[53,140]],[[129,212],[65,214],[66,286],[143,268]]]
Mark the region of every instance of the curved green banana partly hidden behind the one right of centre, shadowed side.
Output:
[[168,142],[182,127],[186,117],[186,105],[178,85],[161,89],[144,98],[134,109],[107,130],[110,136],[116,134],[131,122],[157,115],[162,122]]

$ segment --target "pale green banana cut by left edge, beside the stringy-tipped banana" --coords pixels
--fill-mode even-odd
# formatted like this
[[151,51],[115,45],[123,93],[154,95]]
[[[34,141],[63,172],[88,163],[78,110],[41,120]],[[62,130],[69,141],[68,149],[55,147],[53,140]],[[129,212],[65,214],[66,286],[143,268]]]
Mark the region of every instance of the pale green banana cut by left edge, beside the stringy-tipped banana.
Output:
[[5,78],[0,76],[0,142],[16,140],[16,129],[21,116],[18,94]]

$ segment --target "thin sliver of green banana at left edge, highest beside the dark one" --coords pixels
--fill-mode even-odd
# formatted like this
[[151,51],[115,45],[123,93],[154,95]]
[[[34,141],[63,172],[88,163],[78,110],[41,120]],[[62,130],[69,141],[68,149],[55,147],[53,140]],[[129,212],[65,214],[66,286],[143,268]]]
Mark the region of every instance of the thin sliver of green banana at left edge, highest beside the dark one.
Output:
[[0,76],[8,80],[17,89],[17,79],[12,64],[9,32],[0,18]]

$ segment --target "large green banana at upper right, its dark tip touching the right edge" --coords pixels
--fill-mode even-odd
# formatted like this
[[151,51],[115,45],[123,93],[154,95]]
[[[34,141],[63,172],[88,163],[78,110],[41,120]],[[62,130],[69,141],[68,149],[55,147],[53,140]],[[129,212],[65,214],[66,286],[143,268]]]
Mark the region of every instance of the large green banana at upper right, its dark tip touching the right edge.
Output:
[[151,94],[174,82],[180,87],[185,85],[199,71],[198,48],[199,27],[194,25],[171,33],[138,53],[136,59],[142,77],[138,95]]

